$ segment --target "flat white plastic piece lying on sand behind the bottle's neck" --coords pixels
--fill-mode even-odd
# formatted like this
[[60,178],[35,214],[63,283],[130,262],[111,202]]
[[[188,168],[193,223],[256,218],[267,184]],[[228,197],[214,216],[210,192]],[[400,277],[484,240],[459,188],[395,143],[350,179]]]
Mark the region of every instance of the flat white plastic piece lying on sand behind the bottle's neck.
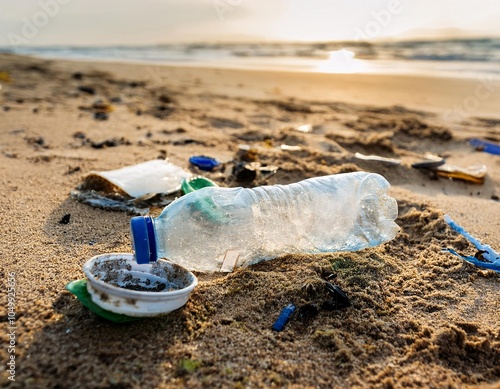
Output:
[[140,197],[151,193],[169,194],[180,189],[183,179],[191,177],[191,173],[168,162],[155,159],[126,166],[117,170],[91,172],[121,188],[132,197]]

